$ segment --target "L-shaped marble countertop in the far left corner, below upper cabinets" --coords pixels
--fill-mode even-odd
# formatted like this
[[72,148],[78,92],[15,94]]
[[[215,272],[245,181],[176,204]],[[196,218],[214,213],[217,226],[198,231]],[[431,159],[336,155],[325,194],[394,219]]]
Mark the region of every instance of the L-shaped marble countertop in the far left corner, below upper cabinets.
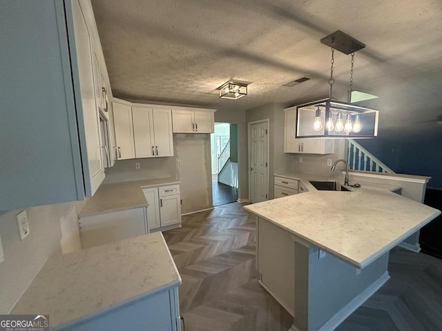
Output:
[[102,184],[94,196],[81,209],[78,216],[86,217],[104,212],[115,212],[131,208],[145,207],[142,187],[177,184],[175,178],[144,179],[141,181],[126,181],[122,183]]

